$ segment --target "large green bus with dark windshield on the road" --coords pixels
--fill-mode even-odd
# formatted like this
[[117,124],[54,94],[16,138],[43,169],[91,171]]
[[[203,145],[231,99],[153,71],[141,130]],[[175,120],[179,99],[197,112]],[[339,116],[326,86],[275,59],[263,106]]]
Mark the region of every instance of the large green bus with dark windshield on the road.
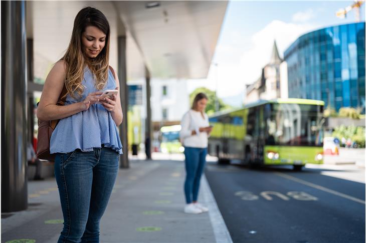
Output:
[[260,100],[210,116],[214,126],[209,154],[219,163],[240,160],[250,166],[323,163],[324,102],[306,99]]

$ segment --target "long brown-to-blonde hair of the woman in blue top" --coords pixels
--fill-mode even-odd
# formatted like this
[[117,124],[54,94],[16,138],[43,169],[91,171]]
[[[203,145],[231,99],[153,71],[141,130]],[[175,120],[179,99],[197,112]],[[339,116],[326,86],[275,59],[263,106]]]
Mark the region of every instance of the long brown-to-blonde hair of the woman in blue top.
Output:
[[[85,56],[82,48],[82,34],[89,26],[94,26],[105,35],[105,46],[96,58]],[[84,67],[87,65],[96,80],[96,88],[102,90],[108,80],[109,68],[109,35],[110,28],[107,18],[97,9],[87,7],[79,11],[75,17],[74,28],[71,35],[69,47],[65,55],[61,58],[66,64],[66,89],[68,94],[76,98],[81,97],[84,86]]]

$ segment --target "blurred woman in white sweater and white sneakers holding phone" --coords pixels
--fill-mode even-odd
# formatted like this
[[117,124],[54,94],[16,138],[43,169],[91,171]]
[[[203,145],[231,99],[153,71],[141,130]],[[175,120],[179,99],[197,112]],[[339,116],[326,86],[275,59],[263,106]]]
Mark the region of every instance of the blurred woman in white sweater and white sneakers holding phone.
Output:
[[209,209],[197,202],[200,180],[206,163],[208,136],[212,131],[209,118],[205,113],[207,96],[196,95],[192,109],[181,120],[180,138],[185,147],[186,182],[185,195],[186,213],[202,213]]

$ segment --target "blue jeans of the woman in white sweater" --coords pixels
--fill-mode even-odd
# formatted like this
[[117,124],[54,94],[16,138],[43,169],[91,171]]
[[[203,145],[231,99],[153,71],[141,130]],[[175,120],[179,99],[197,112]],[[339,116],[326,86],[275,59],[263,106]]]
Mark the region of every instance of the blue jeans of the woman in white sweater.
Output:
[[185,147],[186,156],[186,202],[197,201],[200,180],[205,168],[207,148]]

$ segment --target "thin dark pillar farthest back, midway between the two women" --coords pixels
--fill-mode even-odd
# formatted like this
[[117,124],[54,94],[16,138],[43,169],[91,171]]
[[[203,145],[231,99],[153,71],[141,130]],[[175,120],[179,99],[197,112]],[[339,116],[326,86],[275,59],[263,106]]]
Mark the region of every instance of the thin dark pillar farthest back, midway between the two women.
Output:
[[147,68],[145,67],[145,76],[146,76],[146,128],[145,128],[145,153],[146,159],[151,159],[151,87],[150,87],[150,74]]

